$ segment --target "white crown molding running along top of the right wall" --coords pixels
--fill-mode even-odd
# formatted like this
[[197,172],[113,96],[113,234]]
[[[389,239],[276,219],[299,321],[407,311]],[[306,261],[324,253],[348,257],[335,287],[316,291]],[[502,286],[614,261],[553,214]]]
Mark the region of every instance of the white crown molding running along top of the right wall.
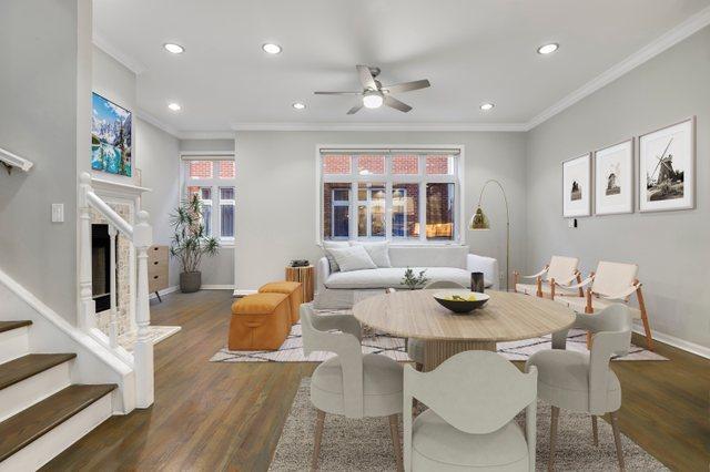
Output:
[[526,124],[525,131],[532,130],[537,125],[546,122],[556,114],[579,102],[580,100],[610,84],[615,80],[627,74],[642,63],[653,59],[661,52],[678,44],[686,38],[697,33],[708,24],[710,24],[710,7],[707,7],[692,17],[688,18],[686,21],[667,31],[665,34],[645,45],[633,54],[629,55],[623,61],[619,62],[618,64],[597,75],[595,79],[590,80],[579,89],[575,90],[572,93],[565,96],[552,106],[544,110],[540,114],[532,117]]

